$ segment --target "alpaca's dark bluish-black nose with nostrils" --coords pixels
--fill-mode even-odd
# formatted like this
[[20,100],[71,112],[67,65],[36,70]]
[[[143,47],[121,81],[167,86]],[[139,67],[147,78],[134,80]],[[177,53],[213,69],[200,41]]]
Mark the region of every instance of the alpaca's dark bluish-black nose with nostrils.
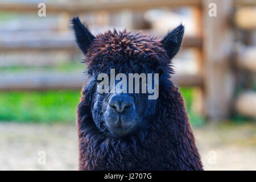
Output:
[[133,105],[133,100],[128,94],[115,94],[109,100],[109,106],[118,113],[123,113]]

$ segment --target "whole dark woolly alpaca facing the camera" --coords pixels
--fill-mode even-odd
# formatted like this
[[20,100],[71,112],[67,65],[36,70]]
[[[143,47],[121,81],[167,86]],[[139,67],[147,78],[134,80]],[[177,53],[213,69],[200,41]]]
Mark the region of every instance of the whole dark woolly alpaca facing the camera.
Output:
[[[162,40],[126,30],[93,36],[78,17],[72,27],[90,78],[77,106],[79,169],[203,170],[183,98],[170,79],[184,27]],[[111,68],[126,75],[158,73],[158,99],[98,93],[97,76]]]

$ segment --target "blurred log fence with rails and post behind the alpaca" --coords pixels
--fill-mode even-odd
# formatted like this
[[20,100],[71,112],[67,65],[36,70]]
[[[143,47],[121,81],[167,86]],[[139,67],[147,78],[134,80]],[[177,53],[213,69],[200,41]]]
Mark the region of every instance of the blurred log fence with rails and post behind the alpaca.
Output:
[[[217,16],[209,16],[209,3],[216,3]],[[158,0],[158,1],[111,1],[56,4],[47,3],[47,13],[61,14],[68,18],[92,11],[147,10],[160,7],[183,7],[193,9],[198,27],[197,35],[185,37],[183,48],[194,48],[197,52],[199,73],[175,75],[174,81],[180,86],[196,86],[195,103],[197,111],[208,119],[225,119],[233,111],[249,117],[256,117],[256,93],[252,90],[236,94],[235,71],[256,72],[255,46],[234,46],[234,31],[255,30],[255,0]],[[246,10],[245,10],[246,9]],[[37,4],[0,2],[0,11],[16,13],[37,13]],[[250,18],[251,17],[251,18]],[[67,20],[68,20],[67,18]],[[148,32],[150,30],[143,30]],[[22,36],[22,35],[21,35]],[[56,39],[42,38],[27,41],[20,38],[0,40],[0,52],[7,51],[76,51],[76,45],[68,36]],[[30,75],[30,76],[29,76]],[[0,73],[0,90],[31,89],[73,89],[81,88],[86,81],[78,73],[70,72],[26,72]]]

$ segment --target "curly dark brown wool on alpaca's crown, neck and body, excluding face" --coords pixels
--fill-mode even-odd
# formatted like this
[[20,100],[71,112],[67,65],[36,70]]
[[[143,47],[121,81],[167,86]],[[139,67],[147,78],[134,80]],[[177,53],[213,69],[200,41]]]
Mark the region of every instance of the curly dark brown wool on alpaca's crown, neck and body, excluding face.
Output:
[[170,80],[170,59],[155,38],[130,32],[106,32],[96,36],[85,62],[93,77],[110,68],[125,72],[159,73],[156,113],[148,127],[117,137],[100,132],[92,118],[96,82],[82,90],[77,106],[80,170],[202,170],[184,101]]

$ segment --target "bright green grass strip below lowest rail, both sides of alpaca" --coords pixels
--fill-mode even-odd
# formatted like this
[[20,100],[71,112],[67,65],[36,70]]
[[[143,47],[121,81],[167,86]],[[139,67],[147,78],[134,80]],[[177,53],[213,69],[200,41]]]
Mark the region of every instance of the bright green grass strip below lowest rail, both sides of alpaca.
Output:
[[[192,112],[192,88],[180,89],[186,102],[192,125],[199,126],[203,118]],[[46,92],[0,92],[0,121],[73,123],[79,90],[52,90]]]

